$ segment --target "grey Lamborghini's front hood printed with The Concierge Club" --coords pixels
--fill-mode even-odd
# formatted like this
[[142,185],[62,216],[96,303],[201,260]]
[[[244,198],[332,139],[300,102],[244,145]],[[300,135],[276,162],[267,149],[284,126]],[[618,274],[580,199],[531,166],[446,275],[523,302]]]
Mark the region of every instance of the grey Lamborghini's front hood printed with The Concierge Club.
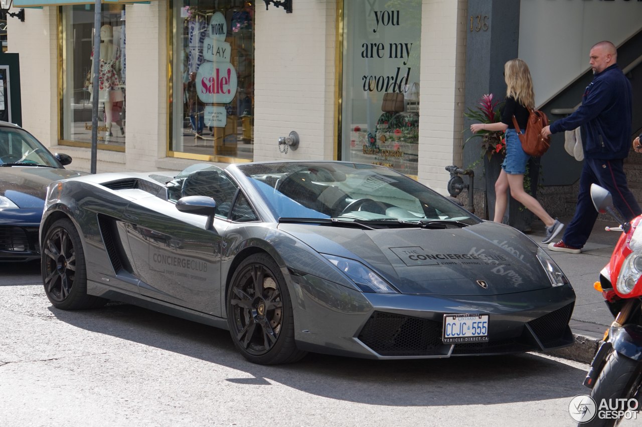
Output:
[[369,265],[404,294],[488,296],[551,287],[535,257],[537,244],[494,222],[444,230],[279,228],[319,253]]

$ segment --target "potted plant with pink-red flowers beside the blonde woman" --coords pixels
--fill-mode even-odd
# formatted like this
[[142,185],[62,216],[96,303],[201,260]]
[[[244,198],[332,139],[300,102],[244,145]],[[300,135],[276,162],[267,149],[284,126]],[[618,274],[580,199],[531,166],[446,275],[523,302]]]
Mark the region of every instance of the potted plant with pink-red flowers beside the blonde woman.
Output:
[[[503,101],[499,102],[493,100],[493,94],[485,94],[480,98],[478,106],[474,109],[468,108],[468,111],[464,113],[464,116],[478,123],[496,123],[500,120],[499,110],[501,110],[502,105]],[[480,147],[482,148],[482,156],[488,156],[489,160],[490,156],[494,154],[502,156],[506,154],[506,141],[504,139],[503,132],[488,130],[478,131],[465,140],[464,146],[474,138],[481,138],[482,141]]]

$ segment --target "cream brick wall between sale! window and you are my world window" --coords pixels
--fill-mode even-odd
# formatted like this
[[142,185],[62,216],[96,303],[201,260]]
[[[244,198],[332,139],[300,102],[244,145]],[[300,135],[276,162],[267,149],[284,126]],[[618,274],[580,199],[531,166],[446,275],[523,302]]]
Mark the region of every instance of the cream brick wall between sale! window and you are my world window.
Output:
[[[297,1],[293,13],[256,6],[254,159],[333,158],[335,1]],[[277,140],[299,133],[297,151]]]

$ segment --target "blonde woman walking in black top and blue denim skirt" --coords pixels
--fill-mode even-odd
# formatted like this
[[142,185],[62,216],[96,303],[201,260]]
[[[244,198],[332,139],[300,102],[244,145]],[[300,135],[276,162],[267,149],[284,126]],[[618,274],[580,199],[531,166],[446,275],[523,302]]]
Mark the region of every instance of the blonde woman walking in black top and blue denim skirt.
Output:
[[504,78],[506,80],[506,102],[501,110],[501,122],[471,124],[471,131],[480,130],[502,131],[506,137],[506,157],[501,164],[499,178],[495,182],[495,217],[493,221],[502,222],[508,205],[508,188],[510,195],[526,206],[546,225],[546,236],[542,243],[548,243],[555,238],[564,224],[548,215],[535,197],[524,190],[524,174],[528,156],[524,153],[517,136],[517,131],[512,122],[513,115],[522,131],[526,131],[528,110],[535,107],[535,93],[533,81],[530,77],[528,65],[521,59],[513,59],[504,64]]

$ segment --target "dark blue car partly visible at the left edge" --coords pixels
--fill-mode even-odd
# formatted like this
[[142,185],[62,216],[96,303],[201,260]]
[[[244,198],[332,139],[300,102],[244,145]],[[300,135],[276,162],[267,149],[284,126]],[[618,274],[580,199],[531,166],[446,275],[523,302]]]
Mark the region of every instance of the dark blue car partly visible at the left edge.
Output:
[[80,176],[20,126],[0,121],[0,262],[40,258],[38,227],[47,186]]

